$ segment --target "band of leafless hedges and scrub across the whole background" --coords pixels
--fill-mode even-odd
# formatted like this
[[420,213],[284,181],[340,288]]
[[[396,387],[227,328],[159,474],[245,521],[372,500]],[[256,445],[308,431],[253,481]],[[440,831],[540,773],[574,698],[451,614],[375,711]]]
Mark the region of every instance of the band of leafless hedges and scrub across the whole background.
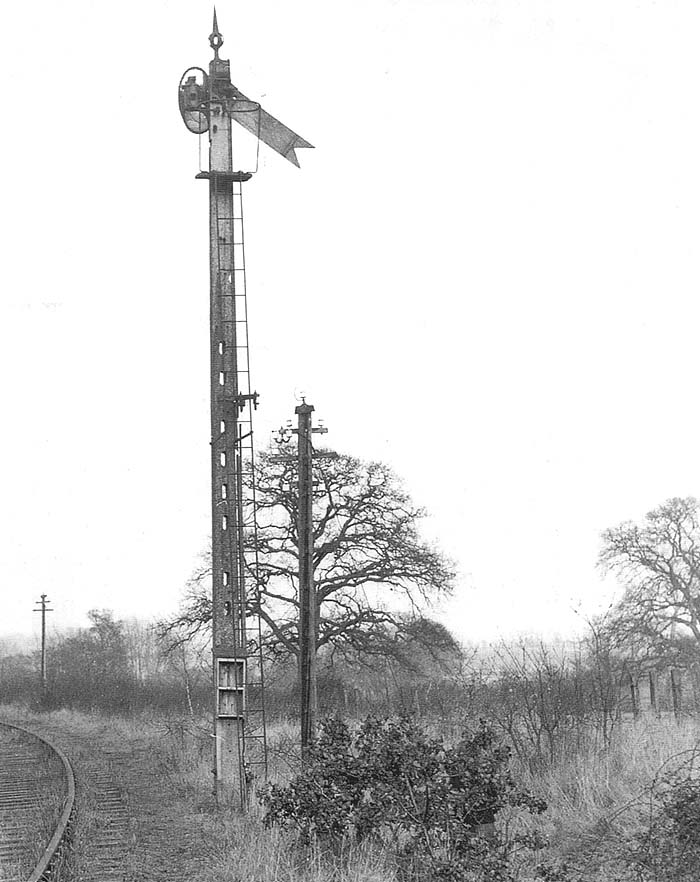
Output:
[[[89,617],[89,627],[50,642],[43,692],[36,653],[0,657],[0,701],[119,714],[150,709],[194,717],[211,710],[206,645],[168,646],[149,626],[117,620],[109,611],[93,610]],[[426,640],[431,634],[432,643]],[[700,710],[692,646],[685,654],[682,644],[662,656],[635,654],[600,623],[568,643],[465,648],[448,637],[442,626],[424,621],[417,638],[390,656],[322,652],[321,715],[405,711],[443,728],[485,718],[523,760],[546,763],[583,740],[607,745],[617,726],[640,713]],[[268,717],[293,719],[298,704],[294,659],[271,661]]]

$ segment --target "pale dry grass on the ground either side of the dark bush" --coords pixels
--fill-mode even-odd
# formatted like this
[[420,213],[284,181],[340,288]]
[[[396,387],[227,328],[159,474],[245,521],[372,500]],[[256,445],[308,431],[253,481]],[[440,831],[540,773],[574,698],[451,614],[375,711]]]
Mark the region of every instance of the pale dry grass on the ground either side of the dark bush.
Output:
[[[138,752],[139,763],[145,762],[146,766],[132,774],[158,782],[159,791],[153,799],[157,798],[167,817],[168,836],[186,843],[183,860],[187,870],[183,865],[182,878],[197,882],[394,879],[391,857],[377,848],[349,846],[340,856],[300,850],[288,834],[265,828],[257,803],[246,817],[217,809],[212,799],[212,737],[204,720],[145,714],[106,719],[74,711],[31,715],[4,709],[5,718],[11,715],[33,721],[37,728],[50,726],[53,730],[82,733],[105,749]],[[270,779],[276,783],[289,780],[298,762],[296,725],[286,720],[273,723],[269,746]],[[520,815],[514,819],[506,813],[501,819],[509,830],[536,831],[549,843],[534,850],[523,849],[519,878],[522,882],[534,879],[535,868],[543,861],[566,861],[570,866],[566,878],[577,882],[656,879],[639,873],[629,875],[633,872],[633,850],[649,824],[650,794],[660,775],[682,762],[689,751],[698,749],[700,720],[677,722],[672,716],[647,716],[620,723],[608,747],[596,739],[594,732],[577,738],[570,749],[537,771],[515,759],[516,780],[548,804],[540,816]],[[129,781],[124,783],[128,787]],[[133,810],[142,812],[142,817],[134,821],[137,831],[142,827],[148,832],[154,805],[140,806],[138,800],[132,800]],[[143,856],[136,854],[135,866],[142,860]],[[135,879],[139,878],[137,872],[138,868],[134,870]],[[149,879],[160,878],[155,869],[149,872]]]

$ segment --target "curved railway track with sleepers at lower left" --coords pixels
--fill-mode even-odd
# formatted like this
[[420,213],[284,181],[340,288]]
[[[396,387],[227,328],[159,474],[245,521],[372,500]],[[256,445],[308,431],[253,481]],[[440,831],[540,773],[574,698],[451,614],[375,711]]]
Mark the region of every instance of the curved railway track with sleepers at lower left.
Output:
[[58,878],[74,808],[75,777],[60,748],[0,722],[0,880]]

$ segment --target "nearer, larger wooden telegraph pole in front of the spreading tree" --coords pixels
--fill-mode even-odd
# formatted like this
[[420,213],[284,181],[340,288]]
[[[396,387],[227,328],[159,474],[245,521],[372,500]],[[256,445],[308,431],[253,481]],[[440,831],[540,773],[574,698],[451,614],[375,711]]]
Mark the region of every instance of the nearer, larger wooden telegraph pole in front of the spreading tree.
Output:
[[[316,646],[318,644],[318,603],[314,585],[314,524],[312,462],[332,454],[314,453],[314,434],[325,434],[324,426],[313,426],[312,404],[302,403],[294,409],[296,429],[280,429],[280,437],[297,436],[297,535],[299,543],[299,688],[301,694],[301,755],[306,758],[316,734],[318,691],[316,675]],[[294,457],[273,457],[278,461],[293,461]]]

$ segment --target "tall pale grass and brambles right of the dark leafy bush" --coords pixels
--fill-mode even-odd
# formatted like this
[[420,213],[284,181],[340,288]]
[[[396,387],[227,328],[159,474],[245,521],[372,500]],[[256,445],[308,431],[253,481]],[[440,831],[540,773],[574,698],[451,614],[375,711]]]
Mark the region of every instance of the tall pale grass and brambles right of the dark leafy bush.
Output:
[[695,721],[646,717],[605,749],[591,741],[546,770],[521,768],[549,804],[534,823],[550,868],[567,882],[700,879],[699,744]]

